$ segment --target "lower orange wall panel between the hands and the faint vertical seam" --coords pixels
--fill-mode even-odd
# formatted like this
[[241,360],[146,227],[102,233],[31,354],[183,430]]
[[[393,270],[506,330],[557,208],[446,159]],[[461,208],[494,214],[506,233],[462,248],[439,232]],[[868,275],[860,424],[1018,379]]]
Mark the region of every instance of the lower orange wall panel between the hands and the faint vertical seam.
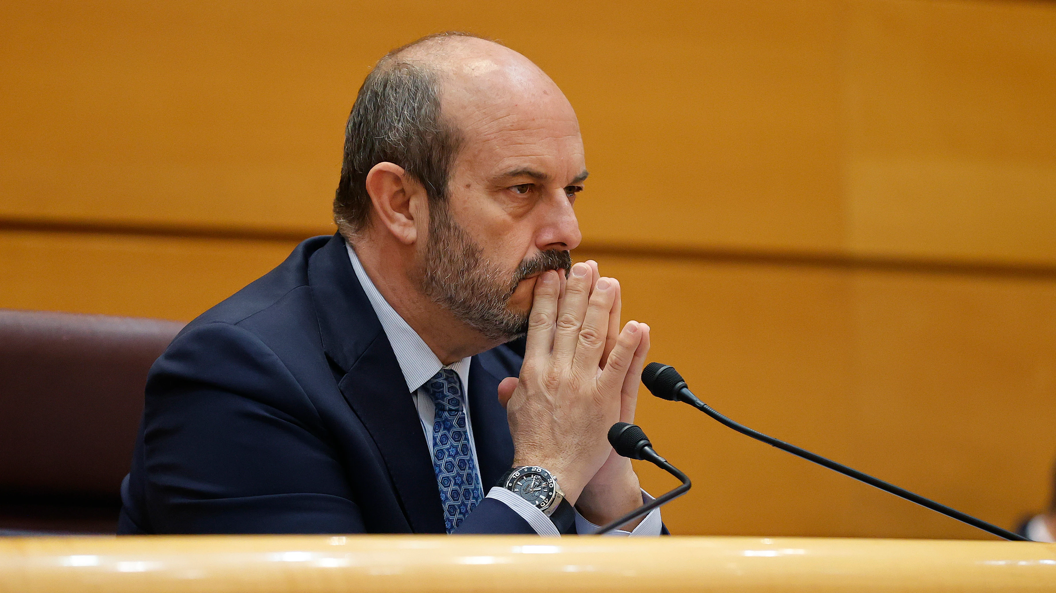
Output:
[[[587,252],[578,256],[589,256]],[[828,269],[665,262],[599,254],[625,287],[624,317],[647,321],[650,360],[675,365],[695,393],[760,431],[841,457],[851,385],[850,285]],[[662,279],[662,280],[661,280]],[[830,509],[851,484],[640,391],[638,421],[694,490],[665,511],[676,533],[837,534]],[[792,420],[790,422],[790,420]],[[672,479],[647,468],[650,492]]]

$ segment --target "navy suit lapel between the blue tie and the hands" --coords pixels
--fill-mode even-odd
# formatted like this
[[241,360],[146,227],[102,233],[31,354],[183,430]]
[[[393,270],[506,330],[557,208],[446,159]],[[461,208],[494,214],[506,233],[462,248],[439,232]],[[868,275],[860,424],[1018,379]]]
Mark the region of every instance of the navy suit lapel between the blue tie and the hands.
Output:
[[473,357],[469,367],[470,422],[473,424],[473,442],[476,458],[480,462],[483,495],[487,496],[491,486],[498,483],[513,464],[513,439],[506,420],[506,409],[498,403],[498,383],[504,377],[495,377],[482,364],[480,355]]

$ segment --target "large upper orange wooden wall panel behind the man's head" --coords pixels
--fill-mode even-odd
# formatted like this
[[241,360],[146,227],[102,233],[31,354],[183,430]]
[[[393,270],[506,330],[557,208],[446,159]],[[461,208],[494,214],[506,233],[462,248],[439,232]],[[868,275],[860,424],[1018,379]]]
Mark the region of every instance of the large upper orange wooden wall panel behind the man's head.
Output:
[[576,106],[589,240],[838,248],[838,3],[512,6],[8,3],[0,215],[326,230],[366,70],[465,28]]

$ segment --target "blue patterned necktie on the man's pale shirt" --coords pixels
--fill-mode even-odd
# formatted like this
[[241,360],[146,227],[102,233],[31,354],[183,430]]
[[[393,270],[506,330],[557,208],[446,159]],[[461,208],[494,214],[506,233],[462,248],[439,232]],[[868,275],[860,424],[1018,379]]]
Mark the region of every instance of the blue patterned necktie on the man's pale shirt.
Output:
[[451,533],[483,496],[476,464],[469,444],[461,381],[458,374],[441,368],[426,383],[436,406],[433,417],[433,470],[444,502],[444,522]]

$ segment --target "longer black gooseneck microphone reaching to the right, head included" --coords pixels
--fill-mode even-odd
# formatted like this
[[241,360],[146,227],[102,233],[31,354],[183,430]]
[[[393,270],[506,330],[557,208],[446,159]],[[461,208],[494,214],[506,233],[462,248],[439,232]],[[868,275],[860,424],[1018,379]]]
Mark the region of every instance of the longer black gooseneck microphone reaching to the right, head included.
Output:
[[767,435],[753,431],[748,426],[744,426],[743,424],[738,424],[737,422],[734,422],[733,420],[716,412],[714,408],[712,408],[712,406],[697,399],[697,396],[694,396],[693,391],[691,391],[690,387],[685,384],[685,380],[682,379],[682,376],[679,375],[678,371],[675,370],[673,366],[668,366],[666,364],[660,364],[657,362],[650,362],[645,366],[645,370],[642,371],[642,383],[645,384],[645,387],[648,388],[648,390],[654,396],[664,400],[685,402],[692,405],[693,407],[699,409],[700,412],[703,412],[708,416],[711,416],[715,420],[718,420],[722,424],[725,424],[727,426],[733,428],[734,431],[737,431],[742,435],[748,435],[753,439],[762,441],[769,445],[776,446],[779,449],[787,451],[792,455],[802,457],[808,461],[813,461],[814,463],[828,467],[833,472],[838,472],[845,476],[854,478],[855,480],[865,482],[871,486],[879,487],[884,492],[891,493],[894,496],[904,498],[910,502],[916,502],[921,506],[930,509],[937,513],[942,513],[947,517],[951,517],[954,519],[957,519],[958,521],[963,521],[974,528],[979,528],[998,537],[1003,537],[1005,539],[1011,539],[1015,541],[1030,541],[1029,538],[1025,538],[1019,534],[1013,533],[1007,530],[1003,530],[995,524],[987,523],[982,519],[977,519],[972,515],[966,515],[956,509],[950,509],[945,504],[940,504],[931,500],[930,498],[924,498],[919,494],[913,494],[908,490],[899,487],[892,483],[885,482],[884,480],[881,480],[879,478],[873,478],[868,474],[863,474],[857,470],[853,470],[842,463],[836,463],[831,459],[826,459],[825,457],[822,457],[821,455],[815,455],[805,448],[797,447],[785,441],[779,441],[773,437],[768,437]]

